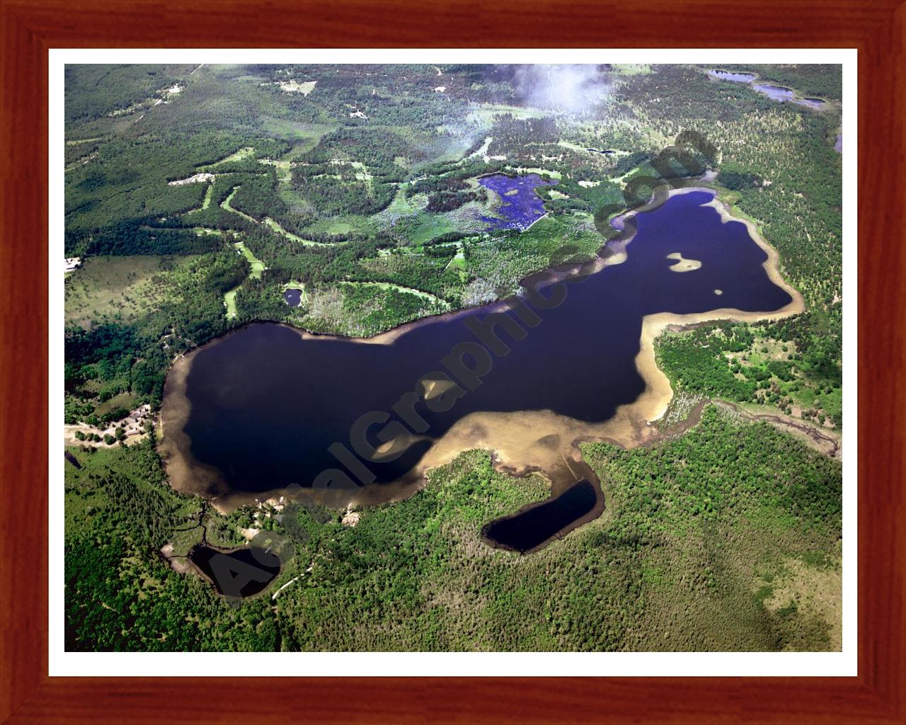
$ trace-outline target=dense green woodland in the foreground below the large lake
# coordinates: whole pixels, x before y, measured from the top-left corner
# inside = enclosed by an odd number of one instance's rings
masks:
[[[239,606],[163,563],[159,546],[198,517],[150,444],[67,464],[67,644],[75,650],[821,650],[841,472],[766,424],[707,409],[686,435],[631,451],[586,445],[603,517],[537,554],[485,545],[487,520],[546,496],[542,478],[497,473],[485,451],[435,470],[427,488],[365,509],[356,527],[296,505],[294,557],[275,600]],[[149,525],[149,517],[154,524]],[[210,532],[247,525],[206,514]],[[268,519],[270,522],[271,519]],[[167,527],[172,527],[169,531]],[[182,538],[180,538],[182,536]],[[187,626],[187,623],[190,623]],[[836,643],[838,646],[838,642]]]

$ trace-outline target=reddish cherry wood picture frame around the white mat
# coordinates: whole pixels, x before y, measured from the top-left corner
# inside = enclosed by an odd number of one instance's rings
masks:
[[[0,0],[0,721],[906,722],[900,3]],[[857,677],[48,677],[48,48],[432,46],[858,48]]]

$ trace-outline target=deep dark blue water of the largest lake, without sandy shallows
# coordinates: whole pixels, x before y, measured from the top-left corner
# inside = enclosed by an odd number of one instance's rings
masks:
[[[375,481],[404,478],[434,440],[474,411],[550,410],[578,420],[610,419],[644,388],[634,364],[644,315],[722,307],[767,312],[790,302],[768,279],[762,266],[766,254],[747,228],[724,224],[715,209],[700,206],[710,198],[693,192],[639,215],[624,263],[564,285],[565,300],[553,309],[532,307],[539,323],[522,324],[522,340],[500,333],[510,352],[486,352],[490,369],[480,377],[466,381],[461,370],[451,373],[462,391],[468,382],[476,389],[452,400],[449,410],[431,411],[419,397],[413,410],[428,426],[427,438],[392,461],[369,462]],[[671,272],[675,260],[667,255],[673,252],[699,260],[701,268]],[[715,295],[716,289],[723,295]],[[408,391],[420,391],[417,381],[426,373],[449,373],[442,359],[458,343],[487,350],[466,326],[486,315],[478,308],[413,324],[391,344],[306,340],[281,325],[250,324],[202,348],[191,364],[185,427],[191,451],[227,490],[312,486],[327,469],[355,478],[355,464],[340,464],[328,447],[339,442],[354,449],[352,424],[369,411],[386,415],[396,432],[409,425],[393,411],[394,403]],[[462,360],[474,367],[468,355]],[[369,431],[375,447],[383,425]],[[328,478],[318,478],[318,486]]]

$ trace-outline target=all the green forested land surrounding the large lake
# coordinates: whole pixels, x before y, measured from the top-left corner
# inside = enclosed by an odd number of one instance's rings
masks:
[[[598,67],[568,108],[510,66],[67,68],[65,251],[83,260],[65,280],[65,422],[81,434],[70,449],[81,468],[66,464],[67,645],[835,646],[803,582],[839,575],[840,463],[716,408],[650,448],[585,446],[607,510],[531,556],[478,532],[545,498],[545,481],[503,476],[487,452],[362,511],[356,527],[291,507],[267,526],[294,556],[273,589],[238,607],[159,549],[188,550],[199,516],[209,540],[237,544],[253,512],[219,517],[175,494],[153,424],[143,442],[115,431],[102,442],[141,404],[153,420],[174,358],[236,325],[371,336],[513,295],[526,275],[599,253],[611,218],[647,200],[646,178],[679,185],[706,169],[695,183],[757,224],[806,311],[667,333],[661,369],[680,396],[839,432],[839,68],[721,67],[826,106],[679,65]],[[707,143],[684,146],[694,162],[678,166],[670,149],[690,134]],[[477,179],[498,172],[556,182],[536,190],[546,216],[528,231],[488,223],[505,199]],[[287,286],[303,291],[298,307],[284,303]]]

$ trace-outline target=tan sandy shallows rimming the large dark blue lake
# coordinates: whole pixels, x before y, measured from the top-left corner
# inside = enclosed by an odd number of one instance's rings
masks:
[[[669,196],[688,194],[693,191],[705,191],[714,194],[707,206],[714,208],[724,223],[738,221],[746,225],[749,235],[761,247],[766,255],[764,267],[769,279],[784,289],[791,296],[791,301],[785,307],[774,311],[743,312],[734,308],[721,307],[701,314],[651,314],[643,318],[641,324],[641,339],[639,353],[635,357],[635,364],[645,382],[645,390],[633,402],[620,406],[613,417],[602,423],[587,423],[574,420],[554,411],[515,411],[515,412],[476,412],[458,420],[446,434],[435,441],[433,447],[419,461],[418,466],[410,471],[405,481],[391,486],[360,488],[350,492],[349,498],[342,502],[352,504],[376,504],[386,500],[406,498],[424,484],[424,476],[429,469],[444,465],[455,459],[460,452],[468,449],[490,449],[495,452],[495,468],[511,474],[522,475],[530,471],[539,471],[552,481],[554,493],[580,478],[577,471],[585,471],[581,453],[577,443],[583,441],[610,441],[624,448],[634,448],[651,442],[658,436],[658,430],[651,425],[667,410],[673,391],[667,376],[660,371],[655,362],[654,341],[668,326],[684,326],[730,320],[735,322],[757,322],[759,320],[776,320],[791,314],[801,313],[805,309],[802,295],[791,285],[786,284],[779,270],[779,256],[773,247],[758,234],[757,228],[744,219],[732,218],[726,208],[718,201],[713,189],[689,188],[670,191]],[[641,208],[645,211],[654,205]],[[623,218],[628,219],[631,212]],[[622,264],[626,259],[626,246],[630,244],[631,237],[613,242],[610,255],[599,257],[587,263],[586,270],[592,274],[601,271],[606,266]],[[697,263],[697,260],[678,258],[677,265],[687,266]],[[698,263],[700,266],[700,263]],[[573,267],[574,268],[574,267]],[[698,268],[698,267],[689,267]],[[676,271],[689,271],[686,268]],[[551,270],[543,273],[545,279],[556,281],[570,274],[570,268]],[[718,291],[715,291],[719,294]],[[717,301],[718,297],[715,296]],[[506,311],[505,302],[489,304],[483,308],[487,313]],[[463,310],[445,315],[457,317],[471,314],[472,310]],[[409,332],[412,325],[431,324],[437,317],[429,317],[415,323],[403,325],[368,339],[361,343],[390,344],[401,334]],[[291,328],[303,338],[313,338],[315,335],[306,333],[296,328]],[[345,338],[349,339],[349,338]],[[197,461],[191,459],[190,445],[182,428],[188,420],[188,401],[185,399],[185,375],[188,364],[194,353],[182,358],[174,364],[167,382],[164,410],[161,411],[162,443],[161,449],[167,462],[167,472],[174,488],[179,490],[194,490],[202,495],[216,495],[226,493],[225,497],[217,496],[214,505],[223,510],[236,507],[250,498],[240,494],[229,494],[218,486],[217,471],[205,466],[199,466]],[[170,393],[173,393],[172,395]],[[423,397],[432,397],[439,394],[435,386],[430,390],[420,391]],[[255,495],[258,498],[267,498],[268,493]]]

